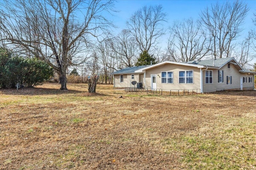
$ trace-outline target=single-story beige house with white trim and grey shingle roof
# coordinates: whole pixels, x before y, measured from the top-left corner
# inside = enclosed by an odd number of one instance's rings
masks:
[[[164,61],[146,66],[127,67],[113,72],[114,87],[134,87],[132,81],[143,88],[162,90],[254,90],[254,74],[244,70],[233,58],[189,61]],[[136,86],[137,87],[137,86]]]

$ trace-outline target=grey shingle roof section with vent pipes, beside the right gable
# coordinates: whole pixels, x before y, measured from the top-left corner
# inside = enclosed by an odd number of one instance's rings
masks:
[[[223,64],[234,59],[233,57],[229,58],[221,58],[221,59],[209,59],[209,60],[201,60],[201,61],[189,61],[189,64],[197,64],[197,65],[204,65],[204,66],[216,66],[221,67]]]

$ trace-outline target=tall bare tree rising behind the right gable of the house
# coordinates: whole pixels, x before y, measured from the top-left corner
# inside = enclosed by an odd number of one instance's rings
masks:
[[[242,31],[241,25],[247,13],[247,5],[239,0],[225,4],[217,2],[202,11],[200,18],[212,37],[214,59],[229,57],[232,43]]]

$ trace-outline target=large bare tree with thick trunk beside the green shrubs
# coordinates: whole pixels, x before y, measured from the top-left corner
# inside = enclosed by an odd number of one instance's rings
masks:
[[[46,61],[59,73],[60,89],[67,90],[68,66],[86,61],[80,57],[90,46],[89,38],[112,25],[102,15],[112,12],[112,5],[112,0],[4,0],[1,41]]]

